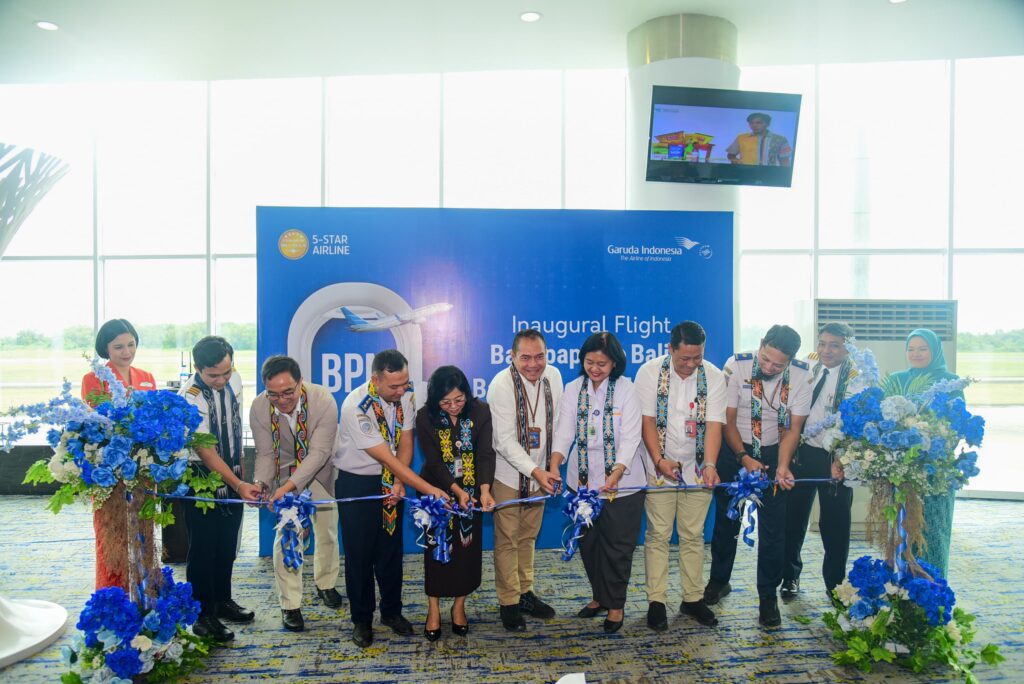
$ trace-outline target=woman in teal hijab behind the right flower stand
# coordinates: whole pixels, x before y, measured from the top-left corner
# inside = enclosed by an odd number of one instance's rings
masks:
[[[939,336],[927,328],[919,328],[906,336],[906,362],[909,368],[893,373],[890,378],[902,391],[911,389],[920,394],[940,380],[955,380],[958,376],[946,368]],[[956,395],[963,398],[963,392]],[[953,524],[955,493],[925,497],[925,543],[927,549],[914,549],[919,558],[939,568],[943,576],[949,565],[949,538]]]

